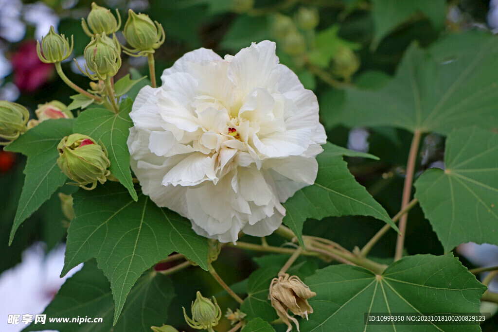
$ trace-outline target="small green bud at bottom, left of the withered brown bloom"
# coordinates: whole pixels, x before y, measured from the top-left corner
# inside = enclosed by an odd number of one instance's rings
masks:
[[[187,324],[197,330],[208,330],[218,325],[221,318],[221,309],[213,296],[214,304],[211,300],[203,297],[201,292],[197,292],[195,302],[192,302],[192,319],[187,316],[183,308],[183,316]]]

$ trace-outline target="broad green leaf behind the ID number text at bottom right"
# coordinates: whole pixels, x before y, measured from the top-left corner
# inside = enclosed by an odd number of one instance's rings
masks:
[[[365,313],[479,313],[486,286],[451,253],[415,255],[377,276],[359,266],[332,265],[306,278],[317,295],[301,331],[464,331],[461,325],[365,325]],[[481,331],[466,325],[465,331]]]

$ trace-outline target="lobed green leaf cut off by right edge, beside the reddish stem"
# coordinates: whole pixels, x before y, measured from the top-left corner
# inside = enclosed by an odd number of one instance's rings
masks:
[[[463,242],[498,244],[498,134],[455,130],[446,140],[446,170],[429,169],[415,197],[446,251]]]

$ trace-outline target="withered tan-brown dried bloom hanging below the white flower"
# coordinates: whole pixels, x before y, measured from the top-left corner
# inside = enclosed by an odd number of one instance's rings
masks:
[[[308,315],[313,313],[308,299],[313,296],[316,296],[316,293],[312,292],[301,279],[297,276],[289,277],[287,273],[283,273],[271,281],[268,300],[271,301],[271,306],[275,308],[278,317],[287,324],[287,332],[289,332],[292,330],[289,320],[294,322],[297,331],[299,331],[299,323],[289,315],[288,311],[308,320]]]

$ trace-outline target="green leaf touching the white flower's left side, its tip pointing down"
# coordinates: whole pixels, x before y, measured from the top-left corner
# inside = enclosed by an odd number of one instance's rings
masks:
[[[129,194],[136,201],[137,196],[131,179],[129,151],[126,144],[128,130],[133,124],[128,115],[132,105],[133,101],[127,98],[121,103],[118,114],[103,109],[86,110],[76,119],[74,132],[88,135],[104,144],[111,161],[109,170],[128,189]]]

